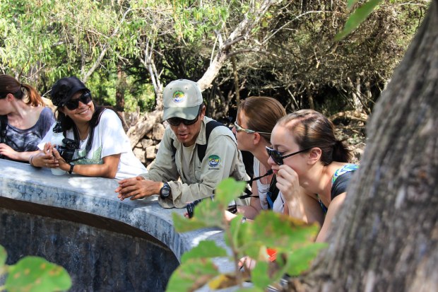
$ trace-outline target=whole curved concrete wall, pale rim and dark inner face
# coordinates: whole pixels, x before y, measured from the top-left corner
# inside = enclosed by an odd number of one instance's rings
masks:
[[[157,197],[120,202],[116,180],[52,175],[0,159],[0,244],[8,263],[38,255],[61,264],[71,291],[163,291],[182,254],[200,240],[224,246],[215,229],[176,233]],[[230,271],[227,259],[217,259]],[[206,290],[206,289],[201,289]]]

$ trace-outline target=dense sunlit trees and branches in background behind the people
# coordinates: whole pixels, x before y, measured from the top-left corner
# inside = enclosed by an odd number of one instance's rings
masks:
[[[236,84],[240,98],[274,96],[289,111],[369,112],[427,2],[382,2],[355,33],[335,41],[348,17],[345,6],[339,0],[1,0],[0,71],[41,93],[57,78],[76,75],[99,103],[152,110],[163,84],[199,80],[213,57],[225,54],[204,95],[214,117],[233,114]],[[254,21],[244,27],[249,31],[218,52],[245,21]]]

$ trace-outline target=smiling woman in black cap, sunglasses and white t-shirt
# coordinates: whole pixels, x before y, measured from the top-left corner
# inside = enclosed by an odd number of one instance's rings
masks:
[[[61,78],[52,87],[52,103],[57,106],[58,122],[70,139],[73,157],[60,155],[50,143],[54,127],[42,139],[41,154],[32,165],[60,168],[68,173],[122,179],[146,173],[131,150],[131,144],[114,110],[93,103],[90,90],[76,77]],[[68,151],[66,151],[68,152]],[[47,159],[44,153],[52,153]]]

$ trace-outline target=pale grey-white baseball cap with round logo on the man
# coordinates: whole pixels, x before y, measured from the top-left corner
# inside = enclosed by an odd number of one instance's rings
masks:
[[[162,92],[164,113],[162,119],[180,117],[196,119],[199,105],[203,103],[198,83],[187,79],[178,79],[167,84]]]

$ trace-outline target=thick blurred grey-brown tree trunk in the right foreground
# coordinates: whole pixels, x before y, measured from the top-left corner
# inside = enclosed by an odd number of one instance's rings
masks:
[[[433,0],[370,117],[329,247],[295,291],[438,287],[438,6]]]

